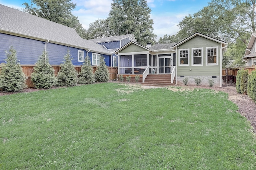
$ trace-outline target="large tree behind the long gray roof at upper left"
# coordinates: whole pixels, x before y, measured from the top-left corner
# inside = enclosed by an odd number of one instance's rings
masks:
[[[27,2],[22,5],[26,6],[24,12],[72,27],[82,38],[85,37],[85,29],[71,12],[76,7],[71,0],[31,0],[31,5]]]

